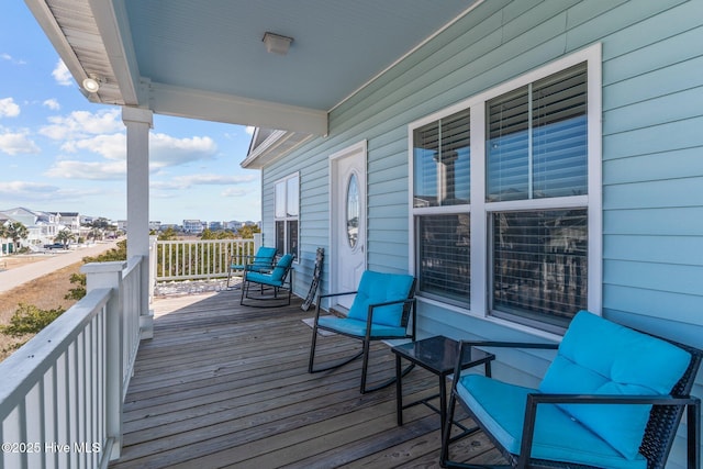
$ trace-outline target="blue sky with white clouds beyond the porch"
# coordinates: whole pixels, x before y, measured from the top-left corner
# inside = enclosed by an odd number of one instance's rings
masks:
[[[250,127],[154,114],[149,220],[259,221]],[[89,102],[22,0],[0,1],[0,211],[126,219],[120,107]]]

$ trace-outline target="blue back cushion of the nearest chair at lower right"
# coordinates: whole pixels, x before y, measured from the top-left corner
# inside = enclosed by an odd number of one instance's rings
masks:
[[[539,391],[668,394],[690,360],[688,351],[665,340],[581,311],[571,321]],[[634,459],[639,450],[651,409],[607,404],[560,407],[628,459]]]

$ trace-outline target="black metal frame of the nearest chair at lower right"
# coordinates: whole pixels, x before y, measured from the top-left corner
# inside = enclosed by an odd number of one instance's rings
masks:
[[[646,334],[646,333],[645,333]],[[649,334],[652,335],[652,334]],[[669,457],[669,451],[673,445],[673,440],[677,435],[677,428],[683,416],[683,411],[687,411],[687,427],[688,427],[688,469],[700,469],[701,465],[701,400],[695,397],[691,397],[691,389],[695,380],[695,375],[701,366],[703,359],[703,350],[695,347],[688,346],[685,344],[679,344],[665,337],[652,335],[652,337],[660,338],[669,342],[691,354],[691,362],[685,372],[677,384],[671,390],[669,395],[595,395],[595,394],[543,394],[532,393],[527,395],[527,403],[525,407],[525,421],[523,424],[523,433],[521,440],[520,455],[514,455],[503,448],[500,443],[491,435],[482,422],[480,422],[471,409],[458,398],[456,392],[457,381],[454,380],[451,386],[451,394],[449,398],[449,409],[447,411],[447,422],[451,422],[454,418],[454,412],[456,409],[457,400],[461,406],[473,418],[478,426],[483,429],[486,435],[491,439],[495,447],[503,454],[507,460],[507,466],[482,466],[470,465],[462,462],[455,462],[448,459],[449,444],[454,443],[450,438],[450,426],[445,427],[445,433],[442,442],[442,453],[439,458],[439,465],[447,468],[583,468],[583,469],[598,469],[592,466],[579,466],[572,462],[551,461],[551,460],[538,460],[531,458],[532,443],[535,429],[535,422],[537,415],[537,406],[539,404],[566,404],[566,403],[582,403],[582,404],[651,404],[652,409],[649,414],[649,421],[645,429],[645,436],[639,447],[639,453],[647,458],[647,468],[663,468]],[[531,344],[531,343],[509,343],[509,342],[461,342],[459,347],[459,357],[464,347],[507,347],[507,348],[548,348],[556,349],[557,344]],[[455,370],[455,377],[460,376],[460,369],[457,367]]]

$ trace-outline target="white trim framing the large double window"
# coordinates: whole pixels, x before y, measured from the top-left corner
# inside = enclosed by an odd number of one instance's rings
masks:
[[[570,208],[587,206],[588,208],[588,226],[589,226],[589,247],[588,247],[588,309],[592,313],[602,314],[602,280],[603,280],[603,213],[602,213],[602,45],[600,43],[589,46],[584,49],[570,54],[563,58],[547,64],[538,69],[528,71],[517,78],[501,83],[488,91],[468,98],[449,108],[445,108],[417,121],[408,126],[408,142],[413,142],[413,131],[417,127],[426,125],[431,122],[446,118],[459,111],[470,108],[471,130],[486,129],[486,102],[492,98],[512,91],[527,83],[539,80],[540,78],[556,74],[577,64],[588,63],[588,196],[573,198],[554,198],[550,200],[540,200],[539,208]],[[482,134],[481,134],[482,135]],[[502,210],[533,209],[535,202],[531,200],[505,201],[505,202],[486,202],[486,138],[484,136],[471,137],[471,203],[469,212],[476,215],[471,216],[471,300],[470,308],[461,309],[460,306],[439,302],[419,297],[419,301],[442,305],[447,310],[469,314],[473,317],[490,321],[496,324],[505,325],[518,331],[528,332],[542,337],[558,337],[546,331],[542,331],[527,325],[506,321],[489,315],[488,303],[488,286],[489,286],[489,267],[488,249],[490,248],[488,239],[488,213]],[[480,155],[481,157],[476,157]],[[408,245],[409,245],[409,271],[415,275],[415,215],[423,213],[442,213],[444,208],[413,208],[414,196],[414,155],[413,145],[409,145],[409,208],[410,215],[408,221]],[[447,206],[447,212],[455,212],[456,208]]]

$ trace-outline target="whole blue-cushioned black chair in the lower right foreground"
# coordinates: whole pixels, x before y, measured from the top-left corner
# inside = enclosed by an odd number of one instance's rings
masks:
[[[461,346],[557,348],[500,342]],[[702,356],[696,348],[581,311],[538,389],[461,375],[457,368],[447,422],[459,401],[510,467],[645,469],[663,468],[688,410],[688,467],[698,469],[701,400],[690,392]],[[448,460],[449,429],[440,465],[483,467]]]

